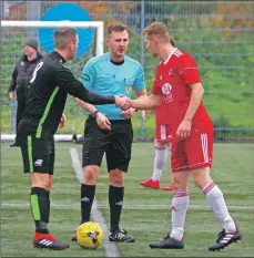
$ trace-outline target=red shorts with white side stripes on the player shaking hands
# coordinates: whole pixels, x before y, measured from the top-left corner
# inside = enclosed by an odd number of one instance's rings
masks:
[[[172,172],[191,171],[212,166],[213,133],[190,136],[186,141],[172,142]]]

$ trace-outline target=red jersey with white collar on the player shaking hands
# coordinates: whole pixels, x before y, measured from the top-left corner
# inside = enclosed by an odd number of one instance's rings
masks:
[[[172,137],[176,136],[191,100],[190,84],[199,83],[200,74],[195,61],[186,52],[174,49],[167,61],[159,63],[153,81],[152,94],[162,94],[167,105],[167,123]],[[191,135],[210,132],[213,125],[201,102],[193,120]]]

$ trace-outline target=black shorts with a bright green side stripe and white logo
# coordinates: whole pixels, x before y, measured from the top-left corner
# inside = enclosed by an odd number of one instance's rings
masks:
[[[24,173],[45,173],[53,175],[54,167],[54,138],[37,138],[31,135],[17,137],[21,147]]]

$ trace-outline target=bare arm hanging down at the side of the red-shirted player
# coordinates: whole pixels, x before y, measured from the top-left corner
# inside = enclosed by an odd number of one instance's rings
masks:
[[[192,118],[194,117],[204,94],[204,89],[200,82],[191,84],[190,87],[192,90],[190,105],[182,123],[179,125],[179,128],[176,131],[177,136],[181,138],[186,138],[190,135]]]

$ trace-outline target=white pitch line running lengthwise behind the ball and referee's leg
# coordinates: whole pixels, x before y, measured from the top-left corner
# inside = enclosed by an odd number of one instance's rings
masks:
[[[75,171],[75,176],[77,176],[78,180],[81,182],[81,178],[83,176],[83,171],[82,171],[82,167],[80,164],[77,148],[74,148],[74,147],[70,148],[70,154],[71,154],[71,159],[72,159],[72,165],[73,165],[73,168]],[[104,220],[101,211],[99,210],[99,205],[98,205],[98,202],[95,200],[95,198],[93,199],[91,215],[94,218],[94,220],[101,225],[102,230],[104,233],[103,247],[105,250],[105,256],[106,257],[120,257],[115,244],[109,241],[109,229],[106,227],[105,220]]]

